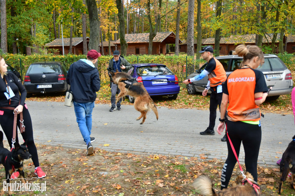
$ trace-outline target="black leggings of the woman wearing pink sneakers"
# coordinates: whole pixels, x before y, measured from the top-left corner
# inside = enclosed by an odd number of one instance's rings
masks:
[[[0,110],[4,111],[3,115],[0,115],[0,124],[1,127],[6,135],[6,138],[8,140],[10,148],[12,148],[12,134],[13,134],[13,119],[14,119],[14,114],[12,110],[9,109],[1,109]],[[38,154],[37,154],[37,148],[34,143],[34,138],[33,138],[33,127],[32,127],[32,120],[31,116],[29,113],[29,110],[24,107],[23,111],[23,118],[24,118],[24,126],[25,127],[25,132],[22,133],[22,137],[24,140],[27,140],[27,147],[32,155],[32,161],[35,165],[35,167],[39,167],[39,159],[38,159]],[[17,126],[19,127],[19,114],[17,115]],[[18,136],[16,133],[16,143],[18,143]]]

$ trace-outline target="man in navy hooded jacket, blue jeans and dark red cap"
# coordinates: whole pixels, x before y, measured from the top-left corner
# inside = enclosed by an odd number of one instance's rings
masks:
[[[95,141],[90,137],[92,128],[92,109],[96,99],[96,92],[100,89],[98,70],[94,67],[101,54],[96,50],[87,53],[87,59],[80,59],[71,64],[67,74],[67,83],[71,85],[73,92],[73,104],[77,117],[77,123],[83,139],[87,144],[86,155],[93,154],[91,142]]]

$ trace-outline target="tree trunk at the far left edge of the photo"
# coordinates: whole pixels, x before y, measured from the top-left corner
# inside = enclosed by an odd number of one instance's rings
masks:
[[[6,0],[0,0],[1,18],[1,50],[7,53],[7,23],[6,23]]]

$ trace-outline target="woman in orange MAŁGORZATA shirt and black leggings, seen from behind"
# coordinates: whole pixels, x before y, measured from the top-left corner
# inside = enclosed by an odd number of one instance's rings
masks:
[[[246,170],[253,175],[253,180],[257,181],[257,160],[261,142],[261,114],[258,106],[265,101],[268,89],[263,73],[255,69],[264,63],[264,57],[258,46],[244,44],[237,46],[234,54],[243,57],[243,62],[240,69],[227,77],[224,85],[217,132],[221,134],[224,129],[227,109],[226,131],[237,156],[243,143]],[[226,141],[228,156],[222,169],[221,189],[227,188],[237,162],[228,138]]]

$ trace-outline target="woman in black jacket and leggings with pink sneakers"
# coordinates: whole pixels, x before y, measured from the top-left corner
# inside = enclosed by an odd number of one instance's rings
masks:
[[[7,72],[7,65],[3,57],[0,56],[0,125],[6,135],[10,148],[12,148],[13,137],[13,124],[14,113],[10,109],[4,109],[3,107],[12,107],[17,110],[17,125],[20,126],[20,113],[23,114],[23,124],[25,131],[22,132],[22,137],[27,140],[27,147],[32,155],[32,161],[35,165],[35,174],[38,178],[43,178],[46,174],[42,171],[37,154],[37,148],[33,138],[32,120],[27,105],[24,103],[27,91],[24,89],[22,82],[12,72]],[[20,94],[20,95],[19,95]],[[18,143],[18,137],[16,134],[16,143]],[[19,175],[18,172],[14,173],[13,178]]]

